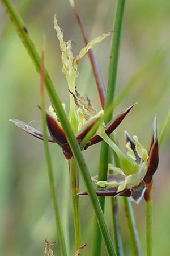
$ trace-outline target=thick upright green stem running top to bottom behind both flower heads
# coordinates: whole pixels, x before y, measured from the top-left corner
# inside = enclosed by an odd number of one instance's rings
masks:
[[[120,39],[121,39],[121,29],[122,29],[122,20],[124,15],[125,0],[118,0],[116,7],[116,14],[113,23],[113,36],[111,44],[111,55],[109,62],[109,74],[108,74],[108,86],[107,94],[105,100],[105,110],[109,108],[114,99],[114,93],[116,88],[116,76],[117,76],[117,66],[118,66],[118,56],[120,51]],[[105,123],[108,123],[112,119],[112,113],[104,119]],[[105,142],[101,143],[100,151],[100,163],[99,163],[99,174],[98,180],[107,179],[107,170],[108,170],[108,156],[109,156],[109,147]],[[105,198],[100,197],[99,202],[101,209],[104,212]],[[92,256],[101,255],[101,233],[97,221],[94,222],[94,240],[92,248]]]

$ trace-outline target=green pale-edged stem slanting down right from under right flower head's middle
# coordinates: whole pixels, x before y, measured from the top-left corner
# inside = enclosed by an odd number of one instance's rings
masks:
[[[141,254],[141,249],[139,245],[139,238],[138,238],[138,232],[137,232],[137,227],[135,223],[135,217],[134,217],[133,208],[132,208],[129,197],[124,197],[124,207],[125,207],[126,218],[128,221],[128,226],[130,231],[133,254],[134,256],[141,256],[142,254]]]

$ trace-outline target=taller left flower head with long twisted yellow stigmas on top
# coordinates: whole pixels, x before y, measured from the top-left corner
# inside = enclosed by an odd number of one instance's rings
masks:
[[[107,36],[111,35],[112,32],[108,32],[107,34],[103,34],[98,38],[95,38],[90,43],[87,44],[86,47],[81,49],[78,56],[73,56],[73,52],[71,49],[71,40],[65,42],[63,40],[63,32],[61,28],[58,26],[57,16],[54,15],[54,28],[57,32],[57,38],[59,40],[59,48],[61,49],[61,60],[62,60],[62,72],[66,77],[68,86],[69,86],[69,96],[70,96],[70,112],[69,112],[69,121],[73,131],[75,133],[76,139],[80,144],[88,131],[92,126],[97,122],[97,120],[104,114],[103,110],[97,112],[94,106],[91,104],[90,99],[87,97],[86,99],[80,96],[75,87],[75,79],[78,76],[78,64],[79,60],[82,59],[84,55],[88,52],[89,49],[95,46],[95,44],[103,41]],[[114,129],[122,122],[125,118],[126,114],[133,108],[130,106],[123,113],[121,113],[114,121],[104,124],[104,131],[106,134],[112,133]],[[65,104],[63,104],[63,109],[65,109]],[[61,123],[59,122],[56,113],[52,106],[49,106],[48,111],[46,111],[46,120],[49,130],[49,142],[57,143],[62,147],[63,154],[67,159],[70,159],[73,156],[69,143],[67,142],[66,135],[62,129]],[[27,125],[22,121],[17,119],[11,120],[22,130],[27,133],[33,135],[36,138],[43,139],[43,134],[36,130],[35,128]],[[92,144],[96,144],[102,141],[102,138],[99,134],[93,134],[90,141],[87,142],[86,146],[83,148],[85,150],[88,146]]]

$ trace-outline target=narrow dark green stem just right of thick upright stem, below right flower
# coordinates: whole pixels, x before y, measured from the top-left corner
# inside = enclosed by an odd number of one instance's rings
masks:
[[[123,256],[123,246],[121,240],[120,233],[120,225],[118,221],[118,200],[117,198],[111,197],[111,205],[112,205],[112,216],[113,216],[113,229],[114,229],[114,240],[116,243],[116,252],[117,256]]]

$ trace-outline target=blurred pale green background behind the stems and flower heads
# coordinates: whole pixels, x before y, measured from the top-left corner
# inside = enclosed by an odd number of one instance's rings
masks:
[[[61,52],[56,32],[53,28],[53,15],[56,12],[58,22],[65,32],[65,40],[72,39],[75,55],[84,46],[69,1],[63,0],[18,0],[16,6],[22,13],[29,33],[39,51],[44,35],[46,36],[45,64],[61,100],[68,106],[69,92],[65,77],[62,75]],[[76,6],[82,18],[84,28],[92,39],[102,32],[112,30],[116,1],[78,0]],[[118,65],[116,95],[131,80],[135,85],[118,105],[115,115],[138,102],[128,118],[118,127],[117,135],[122,150],[125,148],[124,129],[131,135],[137,134],[141,143],[148,148],[152,133],[152,121],[158,114],[158,134],[169,110],[170,95],[170,59],[169,24],[170,2],[168,0],[131,0],[126,2],[122,30],[120,61]],[[107,84],[109,48],[111,39],[94,48],[97,63]],[[146,65],[146,63],[148,63]],[[142,67],[141,75],[135,76]],[[142,69],[143,70],[143,69]],[[9,119],[17,118],[32,122],[41,130],[39,76],[10,20],[0,5],[0,207],[1,255],[28,256],[43,255],[45,238],[56,241],[53,207],[50,201],[48,174],[44,159],[42,142],[25,134],[15,127]],[[100,102],[97,97],[95,80],[88,57],[79,65],[79,77],[76,80],[78,91],[91,98],[97,109]],[[48,107],[49,100],[46,100]],[[169,255],[170,240],[170,134],[169,126],[160,148],[160,163],[154,179],[154,255]],[[69,192],[69,172],[63,160],[61,149],[50,145],[53,157],[56,185],[63,224],[69,216],[70,250],[74,255],[74,225],[71,213]],[[84,151],[91,174],[97,173],[100,145]],[[92,159],[91,159],[92,158]],[[64,180],[68,183],[64,191]],[[84,189],[81,184],[81,189]],[[69,210],[65,210],[69,197]],[[124,241],[125,255],[131,255],[128,227],[120,201],[120,222]],[[81,197],[82,242],[87,242],[84,255],[91,253],[93,210],[87,197]],[[142,201],[134,206],[137,227],[141,239],[143,255],[146,255],[145,242],[145,204]],[[110,199],[107,199],[106,220],[113,234]],[[59,245],[54,247],[54,255],[60,255]],[[107,255],[105,247],[103,254]]]

